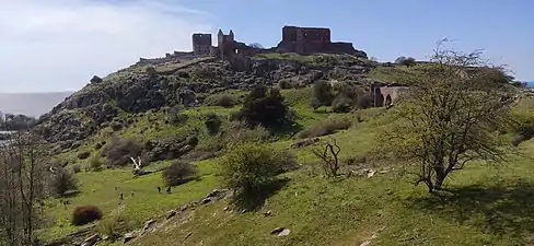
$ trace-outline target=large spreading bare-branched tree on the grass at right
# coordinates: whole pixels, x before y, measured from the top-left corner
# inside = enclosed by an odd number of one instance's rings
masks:
[[[506,161],[499,130],[511,124],[512,91],[499,82],[503,69],[480,51],[443,49],[444,42],[432,63],[396,74],[408,94],[395,108],[399,119],[379,137],[378,156],[404,164],[429,192],[469,162]]]

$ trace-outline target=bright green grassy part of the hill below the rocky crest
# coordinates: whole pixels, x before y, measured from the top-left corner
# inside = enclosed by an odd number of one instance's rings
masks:
[[[268,58],[271,57],[262,57]],[[291,59],[295,60],[294,57]],[[316,62],[309,57],[299,59],[302,62]],[[394,69],[405,68],[378,67],[369,69],[361,78],[387,81],[390,78],[384,71]],[[179,72],[179,69],[174,72]],[[84,90],[89,91],[90,87]],[[246,87],[237,87],[207,94],[230,93],[241,98],[240,95],[246,94]],[[365,168],[376,173],[373,176],[327,178],[317,166],[318,160],[312,154],[311,147],[290,148],[295,141],[291,138],[294,133],[333,119],[350,122],[348,129],[321,137],[336,139],[341,149],[341,160],[350,163],[349,160],[361,160],[373,147],[381,144],[375,140],[376,132],[394,121],[395,117],[385,108],[345,114],[332,113],[329,107],[313,110],[309,106],[311,93],[310,85],[282,90],[286,104],[293,110],[295,128],[275,132],[266,141],[274,148],[294,153],[301,167],[281,174],[285,185],[269,196],[259,210],[234,210],[227,199],[179,210],[184,204],[202,199],[211,190],[222,188],[218,174],[224,148],[214,152],[208,150],[223,140],[208,133],[204,126],[205,115],[220,115],[225,129],[232,124],[231,116],[240,109],[240,104],[221,107],[202,103],[186,107],[179,112],[186,116],[186,120],[179,124],[169,122],[169,110],[164,107],[150,109],[150,113],[120,109],[111,121],[131,119],[130,124],[115,130],[111,124],[101,125],[79,144],[55,155],[56,160],[66,161],[69,168],[82,167],[82,172],[77,174],[80,191],[72,197],[46,201],[44,214],[47,226],[39,231],[39,236],[53,241],[86,227],[71,225],[70,216],[76,207],[94,204],[102,209],[104,219],[91,230],[103,236],[111,232],[124,235],[142,229],[143,223],[151,219],[158,219],[148,233],[126,245],[361,245],[365,242],[370,245],[440,246],[534,244],[534,206],[530,202],[530,197],[534,195],[534,168],[531,166],[534,141],[522,143],[520,148],[526,153],[525,156],[515,157],[507,165],[477,163],[454,173],[444,184],[450,192],[441,197],[429,195],[426,188],[410,184],[410,179],[400,176],[396,163],[357,162],[344,165],[341,173],[356,174]],[[83,95],[83,92],[79,95]],[[61,114],[78,115],[82,121],[92,122],[83,108],[66,108]],[[193,160],[199,178],[174,187],[171,194],[158,192],[158,187],[164,186],[159,172],[135,177],[130,166],[102,171],[84,168],[91,165],[94,156],[103,161],[100,157],[102,149],[95,145],[102,141],[109,142],[113,134],[147,141],[190,132],[196,132],[199,144],[181,159]],[[91,156],[80,159],[80,153],[84,152]],[[191,157],[205,152],[213,153],[207,159]],[[152,162],[144,168],[158,169],[173,161]],[[124,200],[119,199],[120,194],[124,194]],[[69,203],[63,204],[65,200]],[[166,219],[170,210],[178,213]],[[288,229],[290,233],[287,236],[271,235],[276,227]],[[119,236],[98,245],[123,245],[121,241]]]

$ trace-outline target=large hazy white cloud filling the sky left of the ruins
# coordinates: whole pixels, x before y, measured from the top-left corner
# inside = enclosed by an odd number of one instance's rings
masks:
[[[0,92],[78,90],[139,57],[190,50],[211,17],[161,0],[0,0]]]

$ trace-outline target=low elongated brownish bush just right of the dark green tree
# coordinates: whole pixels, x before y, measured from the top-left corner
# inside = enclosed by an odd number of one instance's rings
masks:
[[[344,117],[332,117],[310,125],[304,130],[299,131],[299,133],[295,134],[295,138],[305,139],[333,134],[338,130],[348,129],[351,125],[351,121]]]

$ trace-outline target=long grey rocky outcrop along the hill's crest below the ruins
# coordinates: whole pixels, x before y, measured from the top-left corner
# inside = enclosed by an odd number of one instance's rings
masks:
[[[357,80],[371,69],[369,62],[353,56],[307,56],[298,59],[287,54],[280,56],[267,59],[242,57],[224,62],[199,59],[175,69],[155,67],[158,72],[150,74],[144,67],[131,66],[103,79],[93,78],[92,83],[42,116],[37,127],[59,152],[77,147],[79,141],[107,126],[106,122],[120,112],[137,114],[176,104],[195,105],[195,94],[245,90],[258,83],[275,85],[282,80],[292,81],[299,86],[318,79]],[[164,73],[161,72],[163,70]],[[188,97],[184,98],[184,95]]]

